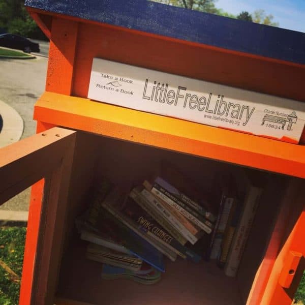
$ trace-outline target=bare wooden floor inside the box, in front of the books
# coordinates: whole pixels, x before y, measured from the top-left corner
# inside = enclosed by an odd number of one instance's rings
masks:
[[[214,262],[165,261],[166,272],[154,285],[129,280],[102,280],[101,263],[85,259],[87,243],[74,241],[66,252],[57,296],[93,304],[241,304],[237,281]],[[80,279],[82,279],[80,281]],[[215,289],[219,287],[219,289]]]

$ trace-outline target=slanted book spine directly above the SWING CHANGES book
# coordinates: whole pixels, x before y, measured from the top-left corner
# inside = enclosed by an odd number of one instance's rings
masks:
[[[185,245],[187,239],[184,238],[161,214],[161,212],[151,206],[148,199],[136,190],[132,190],[130,195],[132,198],[151,216],[153,217],[163,228],[165,228],[169,234],[171,234],[181,245]]]

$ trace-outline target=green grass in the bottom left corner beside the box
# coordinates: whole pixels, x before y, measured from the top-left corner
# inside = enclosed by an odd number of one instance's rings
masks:
[[[0,259],[21,277],[26,228],[0,227]],[[0,266],[0,304],[17,305],[20,281],[11,279]]]

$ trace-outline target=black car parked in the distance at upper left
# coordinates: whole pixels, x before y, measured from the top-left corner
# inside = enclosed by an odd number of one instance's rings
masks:
[[[40,52],[38,43],[15,34],[0,34],[0,46],[22,50],[25,53]]]

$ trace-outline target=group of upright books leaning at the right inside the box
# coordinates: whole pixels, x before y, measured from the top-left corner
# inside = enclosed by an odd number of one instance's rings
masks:
[[[207,259],[216,260],[226,276],[235,277],[263,193],[263,181],[255,174],[238,171],[220,183],[219,213],[212,232]],[[241,187],[240,187],[241,186]]]

